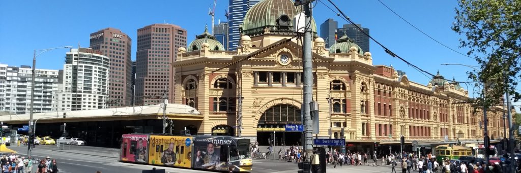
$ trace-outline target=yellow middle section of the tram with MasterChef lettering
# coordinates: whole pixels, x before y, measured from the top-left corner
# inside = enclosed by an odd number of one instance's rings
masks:
[[[150,136],[148,164],[190,168],[192,137]]]

